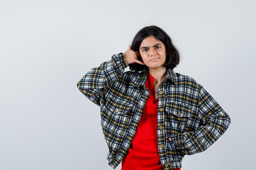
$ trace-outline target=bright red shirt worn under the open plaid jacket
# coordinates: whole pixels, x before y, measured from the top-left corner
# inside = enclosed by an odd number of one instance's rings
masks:
[[[148,73],[146,88],[149,91],[149,98],[128,154],[122,160],[121,170],[164,170],[157,146],[158,99],[155,98],[154,81],[154,77]]]

